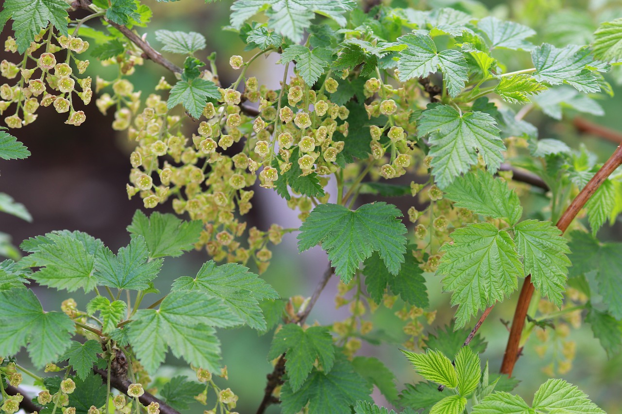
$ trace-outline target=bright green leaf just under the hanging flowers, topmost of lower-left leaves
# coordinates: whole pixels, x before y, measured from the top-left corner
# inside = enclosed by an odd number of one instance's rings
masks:
[[[174,214],[152,213],[149,218],[136,210],[128,231],[145,238],[149,258],[177,257],[194,247],[203,223],[200,220],[182,221]]]

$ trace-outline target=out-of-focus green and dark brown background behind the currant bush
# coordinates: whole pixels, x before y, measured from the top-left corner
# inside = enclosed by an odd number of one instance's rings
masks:
[[[152,34],[157,29],[200,32],[208,39],[208,47],[203,55],[199,53],[197,57],[205,58],[216,51],[223,85],[228,85],[237,77],[237,73],[227,64],[228,58],[238,54],[248,58],[250,54],[243,51],[244,44],[237,34],[221,28],[228,24],[230,1],[223,0],[215,4],[205,4],[203,0],[183,0],[170,4],[152,0],[144,2],[154,12],[147,31],[147,40],[154,47],[159,47]],[[491,13],[536,29],[538,34],[532,42],[538,44],[545,41],[557,46],[585,44],[590,41],[598,23],[622,16],[622,3],[606,0],[394,1],[392,6],[452,6],[471,12],[476,17]],[[139,29],[139,32],[144,32],[144,29]],[[2,44],[6,35],[5,31],[0,39]],[[2,58],[7,58],[7,53],[2,54]],[[168,57],[177,64],[182,63],[182,57]],[[518,68],[529,65],[528,53],[518,53],[513,59]],[[277,57],[258,60],[248,74],[257,76],[260,83],[276,88],[282,76],[282,67],[274,65],[276,60]],[[91,66],[92,70],[87,73],[95,77],[99,73],[98,65],[91,61]],[[605,108],[605,116],[582,116],[602,126],[622,131],[622,88],[616,83],[622,78],[619,69],[606,76],[613,85],[615,96],[610,98],[601,94],[598,98]],[[171,82],[174,80],[170,73],[147,61],[143,67],[137,68],[130,79],[136,90],[149,93],[163,75]],[[124,132],[115,132],[109,128],[111,115],[102,116],[94,105],[88,108],[86,114],[85,124],[76,128],[63,124],[62,117],[53,111],[40,111],[37,122],[14,131],[29,147],[32,156],[27,160],[0,161],[0,191],[9,193],[17,201],[24,203],[34,218],[33,223],[26,223],[6,214],[0,216],[0,229],[11,234],[17,244],[27,237],[57,229],[88,232],[101,238],[113,251],[128,243],[129,236],[125,228],[134,211],[142,208],[142,202],[137,198],[128,201],[125,191],[131,145]],[[616,144],[601,137],[580,134],[570,122],[572,117],[573,114],[569,113],[565,122],[560,124],[539,111],[532,111],[526,119],[539,127],[541,138],[561,139],[572,148],[585,144],[588,150],[598,155],[599,162],[604,162]],[[258,195],[254,208],[249,214],[249,226],[256,225],[261,229],[267,229],[271,223],[284,227],[296,226],[296,213],[289,213],[284,201],[278,196],[259,188],[256,193]],[[527,203],[530,200],[531,198],[527,198]],[[398,205],[402,211],[406,211],[412,204],[411,198],[388,201]],[[529,209],[529,205],[526,205],[526,209]],[[160,211],[170,211],[170,205]],[[622,223],[618,220],[611,228],[605,226],[599,236],[603,241],[622,241]],[[182,275],[195,275],[200,265],[208,259],[207,254],[202,251],[165,260],[160,277],[156,280],[156,287],[168,292],[172,280]],[[322,265],[316,267],[316,263]],[[325,254],[318,248],[298,254],[295,250],[295,234],[289,234],[285,236],[281,246],[274,249],[272,265],[263,277],[282,297],[307,296],[313,291],[315,281],[324,272],[325,263]],[[440,293],[437,278],[433,275],[426,277],[431,308],[439,309],[435,325],[446,324],[453,315],[452,309],[448,307],[449,296]],[[310,322],[317,320],[322,324],[330,324],[347,316],[345,309],[336,310],[333,305],[336,284],[333,278],[310,315]],[[55,293],[36,286],[34,290],[44,303],[45,310],[58,310],[60,302],[67,298],[65,292]],[[81,307],[90,299],[80,293],[72,293],[72,297]],[[480,330],[488,340],[488,349],[483,357],[489,359],[493,371],[501,364],[508,337],[506,327],[499,320],[511,320],[515,303],[516,298],[513,298],[496,306]],[[384,361],[396,374],[399,389],[403,388],[404,383],[417,382],[419,378],[398,351],[399,343],[406,339],[401,332],[401,321],[391,311],[382,309],[372,316],[372,320],[376,329],[386,331],[389,343],[383,346],[365,345],[361,351]],[[223,343],[223,363],[228,366],[230,377],[226,383],[219,379],[220,385],[231,387],[239,395],[238,412],[252,413],[261,401],[266,374],[272,370],[270,362],[266,361],[271,333],[258,336],[250,329],[230,329],[221,330],[219,336]],[[588,393],[606,412],[622,413],[622,357],[618,355],[608,359],[587,326],[572,329],[570,339],[577,342],[577,356],[572,370],[564,375],[564,379]],[[521,380],[518,392],[527,401],[531,401],[533,392],[547,379],[541,368],[549,363],[550,355],[547,354],[544,359],[537,356],[534,346],[538,344],[539,341],[530,341],[514,370],[514,375]],[[161,375],[167,377],[177,373],[187,373],[191,377],[193,375],[182,361],[169,357],[167,367],[162,369]],[[378,392],[374,392],[374,396],[378,395]],[[382,398],[378,398],[378,402],[383,402]],[[195,404],[188,412],[198,413],[202,410],[202,406]],[[268,412],[277,413],[280,410],[277,406],[272,406]]]

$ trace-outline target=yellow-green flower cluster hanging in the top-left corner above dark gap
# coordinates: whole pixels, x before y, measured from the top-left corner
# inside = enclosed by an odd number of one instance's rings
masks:
[[[0,114],[7,111],[12,103],[16,103],[16,112],[4,118],[10,128],[21,128],[37,119],[37,110],[40,106],[52,106],[58,113],[68,113],[65,124],[79,126],[86,120],[84,111],[74,108],[78,101],[88,104],[93,97],[91,78],[82,75],[88,67],[88,60],[79,60],[76,55],[88,49],[88,42],[79,37],[49,36],[43,40],[47,30],[42,30],[35,37],[34,42],[26,50],[26,56],[21,63],[11,63],[7,60],[0,62],[0,75],[8,80],[19,80],[14,85],[3,83],[0,85]],[[55,40],[56,42],[53,42]],[[45,46],[45,47],[44,47]],[[44,47],[44,52],[41,48]],[[5,44],[6,52],[17,52],[15,39],[9,37]],[[64,51],[67,55],[64,62],[57,60],[56,52]],[[27,63],[34,61],[35,66],[27,67]],[[70,63],[73,63],[70,65]]]

